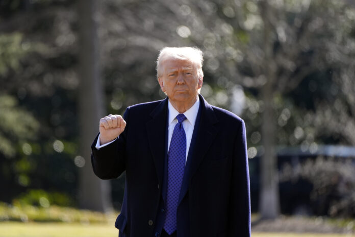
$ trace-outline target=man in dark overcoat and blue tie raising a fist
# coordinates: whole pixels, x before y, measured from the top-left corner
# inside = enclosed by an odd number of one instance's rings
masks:
[[[164,48],[157,75],[167,98],[100,119],[93,170],[126,172],[119,236],[250,236],[244,122],[200,96],[202,61],[198,49]]]

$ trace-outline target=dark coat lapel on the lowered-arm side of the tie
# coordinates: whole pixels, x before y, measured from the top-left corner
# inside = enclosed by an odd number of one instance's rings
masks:
[[[204,159],[218,132],[218,129],[215,126],[218,123],[218,120],[213,108],[201,95],[199,95],[199,98],[200,108],[199,116],[197,116],[199,121],[196,121],[191,139],[191,145],[193,145],[193,147],[190,145],[179,202],[184,198],[192,176]]]

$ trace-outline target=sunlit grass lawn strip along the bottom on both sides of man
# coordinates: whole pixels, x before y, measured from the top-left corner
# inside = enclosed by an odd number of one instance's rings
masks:
[[[0,222],[0,237],[117,237],[113,224]],[[354,237],[344,234],[253,233],[252,237]]]

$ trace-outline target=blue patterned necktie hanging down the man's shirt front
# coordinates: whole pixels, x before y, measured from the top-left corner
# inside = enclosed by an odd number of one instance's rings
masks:
[[[186,134],[183,113],[176,116],[177,124],[172,133],[168,152],[168,191],[166,197],[166,217],[164,229],[168,234],[176,230],[176,211],[183,182],[186,159]]]

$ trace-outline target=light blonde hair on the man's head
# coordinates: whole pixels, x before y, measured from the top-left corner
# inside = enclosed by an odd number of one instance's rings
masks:
[[[197,77],[199,79],[204,78],[204,72],[202,71],[202,64],[204,62],[204,53],[196,47],[165,47],[159,53],[157,59],[157,78],[162,76],[161,63],[168,59],[181,59],[189,60],[196,65],[197,68]]]

